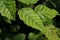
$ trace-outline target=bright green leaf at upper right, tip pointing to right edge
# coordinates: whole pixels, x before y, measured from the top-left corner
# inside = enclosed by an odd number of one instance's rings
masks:
[[[35,8],[36,13],[38,13],[38,15],[44,15],[50,19],[54,18],[56,15],[58,15],[58,12],[54,9],[50,9],[45,5],[38,5]]]

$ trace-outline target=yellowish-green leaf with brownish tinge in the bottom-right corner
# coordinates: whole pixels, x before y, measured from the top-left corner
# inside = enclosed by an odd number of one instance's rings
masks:
[[[49,40],[60,40],[60,38],[57,35],[57,30],[52,24],[45,26],[44,34]]]

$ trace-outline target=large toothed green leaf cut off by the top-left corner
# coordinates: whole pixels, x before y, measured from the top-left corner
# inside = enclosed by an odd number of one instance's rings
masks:
[[[0,13],[9,20],[15,20],[15,0],[0,0]]]

